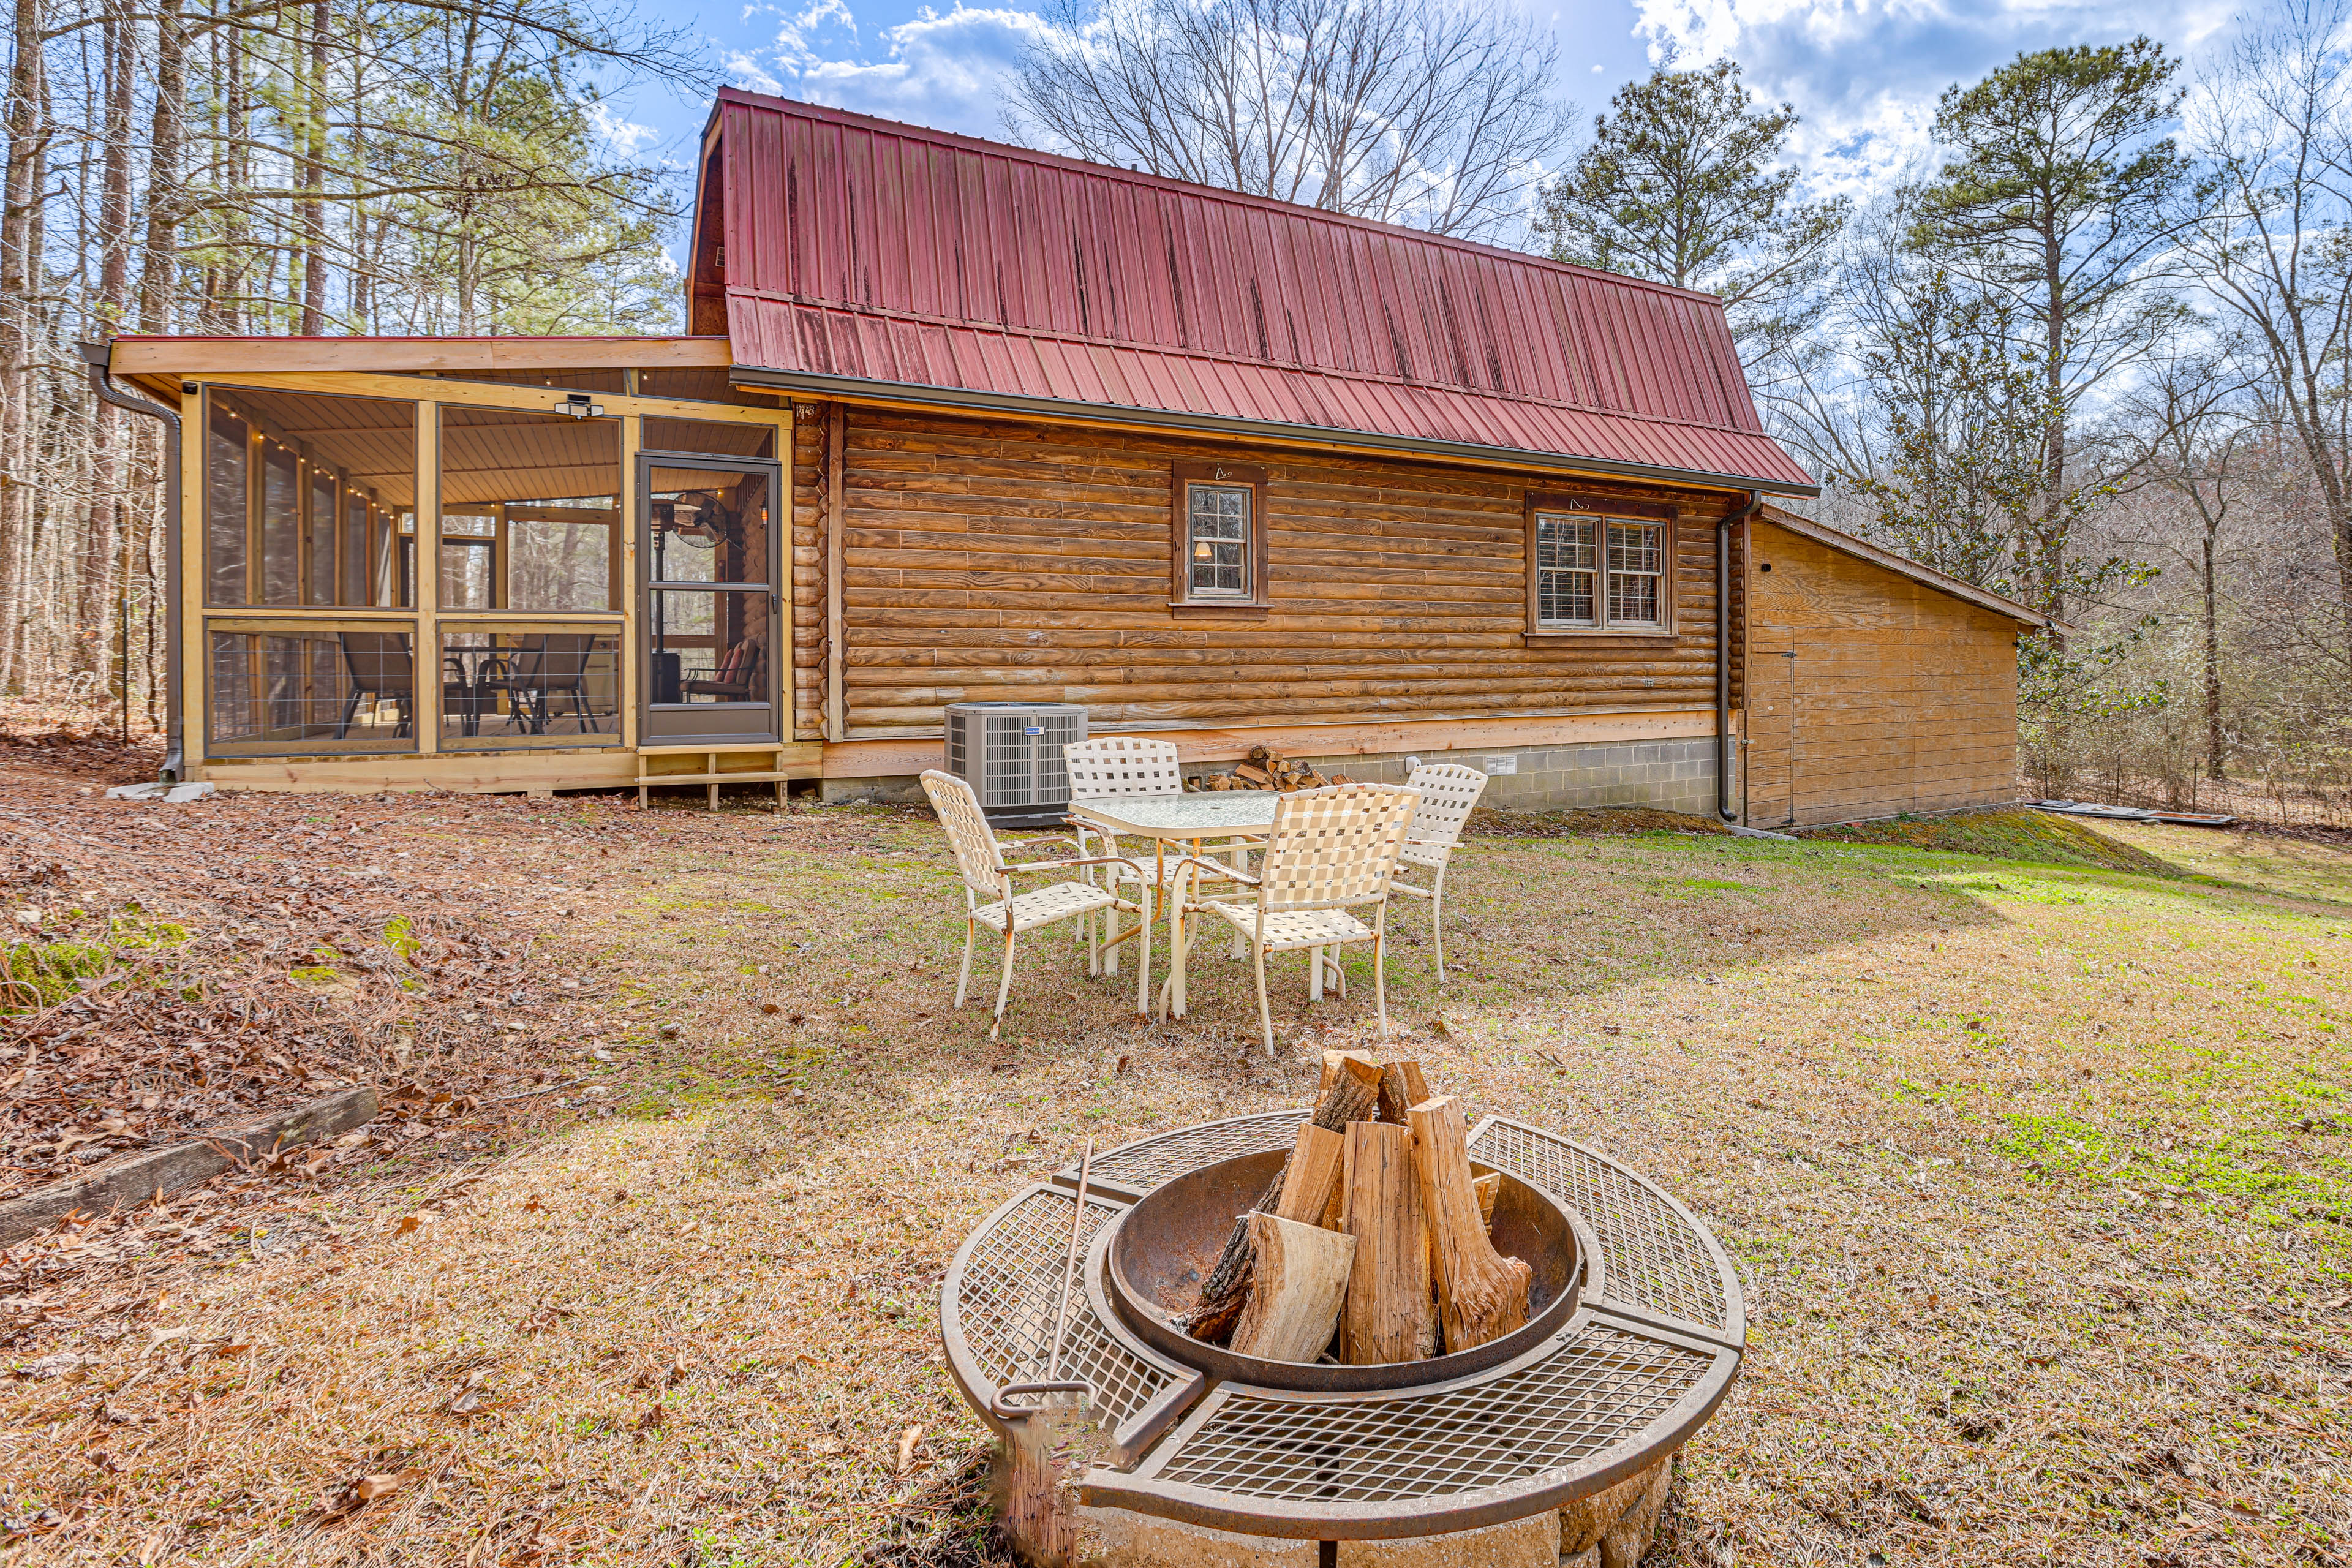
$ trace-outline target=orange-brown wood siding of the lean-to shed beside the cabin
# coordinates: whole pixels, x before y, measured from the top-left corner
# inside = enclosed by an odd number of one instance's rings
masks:
[[[2013,621],[1766,522],[1745,576],[1752,825],[2018,799]]]

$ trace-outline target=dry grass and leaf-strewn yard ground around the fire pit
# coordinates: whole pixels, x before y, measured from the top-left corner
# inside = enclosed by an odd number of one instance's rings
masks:
[[[1089,1135],[1298,1105],[1374,1044],[1369,964],[1310,1009],[1279,959],[1268,1060],[1247,966],[1197,959],[1162,1030],[1037,940],[990,1046],[910,811],[120,806],[82,790],[134,759],[28,750],[0,849],[68,882],[0,919],[87,943],[136,891],[183,929],[87,1009],[209,983],[235,1051],[158,1027],[235,1093],[409,1093],[318,1171],[0,1255],[0,1563],[993,1561],[957,1241]],[[1658,1178],[1748,1284],[1651,1563],[2352,1563],[2352,853],[2098,832],[2154,870],[1486,825],[1444,994],[1399,914],[1395,1044]],[[96,1023],[47,1013],[78,1077],[0,1100],[49,1119],[19,1185],[153,1093]]]

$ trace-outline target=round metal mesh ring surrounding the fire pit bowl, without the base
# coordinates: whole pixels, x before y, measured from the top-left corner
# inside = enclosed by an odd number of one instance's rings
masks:
[[[1108,1439],[1080,1476],[1080,1502],[1289,1540],[1477,1530],[1649,1469],[1731,1392],[1748,1309],[1715,1237],[1606,1154],[1503,1117],[1470,1128],[1470,1159],[1534,1190],[1526,1213],[1536,1197],[1566,1211],[1576,1237],[1562,1265],[1569,1288],[1538,1312],[1545,1326],[1515,1335],[1503,1359],[1468,1371],[1456,1371],[1454,1356],[1378,1368],[1414,1382],[1334,1389],[1279,1387],[1265,1368],[1282,1363],[1223,1352],[1221,1363],[1204,1363],[1209,1347],[1190,1340],[1183,1359],[1169,1354],[1131,1314],[1148,1319],[1148,1309],[1112,1305],[1110,1258],[1129,1215],[1141,1234],[1148,1213],[1136,1211],[1150,1194],[1249,1154],[1265,1154],[1256,1171],[1270,1175],[1305,1117],[1204,1121],[1096,1154],[1077,1215],[1082,1281],[1058,1368],[1087,1385]],[[1235,1166],[1240,1204],[1256,1201],[1265,1175],[1251,1185],[1247,1166]],[[1002,1389],[1047,1378],[1075,1190],[1073,1166],[1014,1194],[971,1232],[941,1288],[948,1371],[1000,1434],[1021,1420]],[[1216,1220],[1216,1246],[1232,1213],[1228,1206]],[[1150,1286],[1148,1274],[1138,1269],[1127,1295],[1155,1300],[1169,1288]]]

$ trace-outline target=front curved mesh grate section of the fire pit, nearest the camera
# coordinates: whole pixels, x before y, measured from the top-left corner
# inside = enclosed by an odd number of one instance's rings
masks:
[[[1637,1434],[1715,1356],[1590,1321],[1543,1359],[1446,1394],[1310,1403],[1232,1394],[1157,1467],[1230,1497],[1397,1502],[1510,1486]]]

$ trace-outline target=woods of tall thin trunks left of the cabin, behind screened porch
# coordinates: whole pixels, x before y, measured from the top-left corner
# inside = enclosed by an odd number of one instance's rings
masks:
[[[670,172],[600,80],[691,78],[567,0],[14,0],[0,691],[160,708],[160,433],[78,341],[647,331]]]

